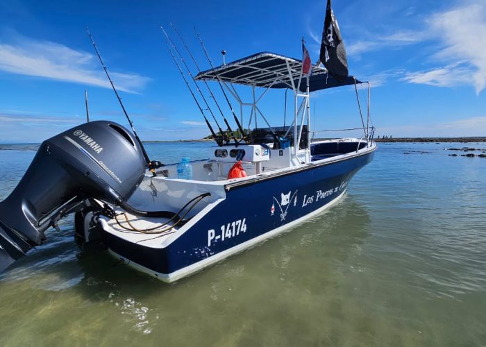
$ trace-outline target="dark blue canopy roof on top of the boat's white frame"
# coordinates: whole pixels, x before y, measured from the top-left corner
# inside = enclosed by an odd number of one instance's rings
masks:
[[[241,85],[255,85],[267,88],[296,89],[301,76],[302,61],[294,58],[280,56],[275,53],[256,53],[240,60],[235,60],[226,65],[201,71],[196,80],[219,80]],[[293,81],[293,85],[292,85]],[[344,81],[337,81],[328,74],[324,67],[312,66],[312,76],[309,79],[309,91],[323,90],[342,85],[362,83],[348,76]],[[302,77],[299,90],[305,92],[307,81]]]

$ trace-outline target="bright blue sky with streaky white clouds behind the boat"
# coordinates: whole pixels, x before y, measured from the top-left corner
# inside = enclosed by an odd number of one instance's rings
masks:
[[[86,26],[138,135],[198,139],[209,131],[160,26],[184,53],[169,23],[178,28],[201,69],[210,66],[194,26],[215,65],[222,62],[222,49],[226,62],[261,51],[301,59],[302,37],[317,61],[325,6],[324,0],[0,0],[0,143],[42,142],[83,123],[85,90],[90,119],[128,126]],[[333,10],[350,74],[371,82],[376,135],[486,136],[484,0],[334,0]],[[185,60],[196,74],[187,54]],[[212,85],[231,115],[218,88]],[[240,90],[250,97],[249,90]],[[360,98],[366,105],[364,89]],[[262,99],[272,126],[283,125],[284,102],[282,90]],[[361,124],[351,87],[319,91],[310,102],[315,130]],[[292,108],[287,101],[287,110]]]

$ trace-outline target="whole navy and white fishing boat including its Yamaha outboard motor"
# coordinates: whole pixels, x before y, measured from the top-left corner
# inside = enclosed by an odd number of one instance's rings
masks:
[[[129,266],[174,282],[330,208],[374,156],[369,97],[365,117],[358,98],[361,137],[317,140],[311,128],[310,94],[351,85],[358,96],[364,82],[354,76],[330,74],[305,56],[263,52],[200,71],[194,80],[219,83],[233,96],[241,138],[208,124],[216,144],[207,159],[152,167],[136,134],[111,121],[46,140],[0,203],[0,271],[74,213],[79,244],[101,242]],[[239,88],[250,88],[251,100]],[[260,108],[269,90],[292,92],[292,124],[269,124]]]

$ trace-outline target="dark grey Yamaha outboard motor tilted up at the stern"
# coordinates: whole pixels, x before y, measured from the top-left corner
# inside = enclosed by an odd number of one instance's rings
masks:
[[[44,242],[44,230],[87,198],[124,204],[146,163],[124,127],[92,121],[42,142],[26,174],[0,203],[0,271]]]

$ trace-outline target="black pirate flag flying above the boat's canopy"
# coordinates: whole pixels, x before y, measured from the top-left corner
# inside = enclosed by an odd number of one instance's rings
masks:
[[[348,76],[348,60],[346,59],[344,42],[342,42],[340,27],[337,25],[334,12],[330,8],[330,0],[328,0],[326,19],[324,19],[324,28],[322,29],[319,59],[329,71],[329,74],[337,81],[342,81]]]

